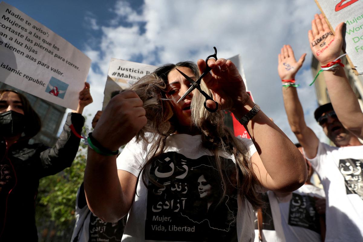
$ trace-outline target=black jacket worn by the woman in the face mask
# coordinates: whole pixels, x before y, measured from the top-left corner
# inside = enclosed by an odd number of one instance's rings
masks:
[[[53,148],[19,140],[7,150],[0,140],[0,241],[38,241],[35,225],[35,198],[39,179],[70,167],[85,119],[70,113]]]

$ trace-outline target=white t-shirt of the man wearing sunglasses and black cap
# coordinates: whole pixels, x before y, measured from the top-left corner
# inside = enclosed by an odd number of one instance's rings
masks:
[[[363,145],[319,143],[316,157],[308,160],[326,194],[325,241],[363,241]]]

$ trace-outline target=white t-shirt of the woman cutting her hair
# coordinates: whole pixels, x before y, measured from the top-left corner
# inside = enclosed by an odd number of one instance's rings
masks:
[[[251,157],[256,148],[251,140],[242,140]],[[130,141],[117,158],[117,169],[137,177],[148,148],[146,142]],[[218,155],[223,172],[235,181],[233,155]],[[139,178],[122,241],[253,241],[252,205],[228,185],[218,204],[224,187],[215,166],[200,135],[170,135],[150,168],[151,177],[165,187],[149,182],[147,189]]]

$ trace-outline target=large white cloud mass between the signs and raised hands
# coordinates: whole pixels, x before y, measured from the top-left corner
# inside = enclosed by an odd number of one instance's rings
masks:
[[[241,55],[255,101],[291,140],[296,141],[282,103],[277,54],[284,44],[294,48],[297,58],[308,53],[305,70],[300,71],[297,80],[310,83],[311,52],[307,31],[319,11],[314,1],[146,0],[139,8],[141,12],[125,1],[118,1],[114,9],[117,17],[110,19],[108,26],[99,26],[102,31],[99,49],[94,50],[92,46],[92,50],[85,50],[92,65],[97,66],[89,74],[94,104],[87,107],[85,113],[95,114],[102,105],[111,57],[132,61],[138,57],[144,63],[161,65],[204,59],[216,46],[218,57]],[[120,25],[120,21],[127,24]],[[314,88],[304,84],[298,92],[306,123],[323,138],[312,115],[317,107]]]

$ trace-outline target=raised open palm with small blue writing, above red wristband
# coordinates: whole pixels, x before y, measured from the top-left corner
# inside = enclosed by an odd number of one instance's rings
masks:
[[[277,71],[281,80],[292,80],[295,78],[296,73],[301,68],[305,60],[305,54],[302,54],[300,59],[296,61],[294,51],[290,45],[284,45],[281,48],[281,53],[278,54]]]

